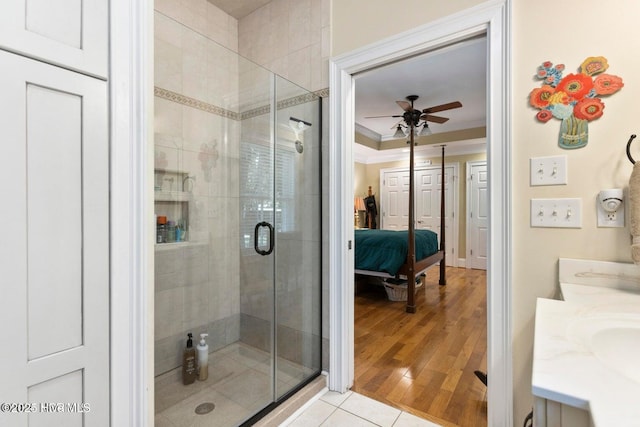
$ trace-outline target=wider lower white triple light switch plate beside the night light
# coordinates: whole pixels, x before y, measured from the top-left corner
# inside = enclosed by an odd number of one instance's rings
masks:
[[[582,228],[582,199],[531,199],[531,226]]]

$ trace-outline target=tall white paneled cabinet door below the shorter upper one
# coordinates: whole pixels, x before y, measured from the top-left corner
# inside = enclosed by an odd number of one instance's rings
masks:
[[[36,405],[0,425],[108,426],[107,83],[0,69],[0,402]]]

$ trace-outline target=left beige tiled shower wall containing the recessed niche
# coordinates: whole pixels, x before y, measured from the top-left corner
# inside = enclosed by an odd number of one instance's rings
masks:
[[[160,374],[182,363],[187,332],[208,332],[211,351],[240,338],[240,122],[237,55],[198,33],[236,50],[237,21],[206,1],[156,1],[156,10],[155,168],[188,178],[164,190],[184,200],[189,226],[187,242],[155,250]],[[170,206],[157,203],[156,213]]]

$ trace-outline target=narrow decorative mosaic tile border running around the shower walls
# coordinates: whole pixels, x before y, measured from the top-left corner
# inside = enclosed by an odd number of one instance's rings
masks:
[[[264,105],[262,107],[247,110],[243,113],[236,113],[234,111],[227,110],[213,104],[208,104],[206,102],[199,101],[195,98],[190,98],[180,93],[163,89],[157,86],[154,87],[153,92],[154,92],[154,95],[157,96],[158,98],[162,98],[162,99],[166,99],[167,101],[186,105],[187,107],[197,108],[198,110],[206,111],[211,114],[216,114],[218,116],[222,116],[231,120],[246,120],[252,117],[258,117],[264,114],[269,114],[269,112],[271,111],[270,105]],[[328,96],[329,96],[329,88],[321,89],[313,93],[294,96],[292,98],[287,98],[282,101],[279,101],[277,103],[277,109],[281,110],[283,108],[295,107],[296,105],[317,101],[319,98],[326,98]]]

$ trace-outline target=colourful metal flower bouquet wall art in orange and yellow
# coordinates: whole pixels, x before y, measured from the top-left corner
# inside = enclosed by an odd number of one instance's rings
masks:
[[[619,91],[622,79],[605,71],[607,59],[589,57],[580,65],[580,72],[562,77],[564,64],[543,62],[537,77],[542,86],[529,94],[529,103],[537,108],[536,118],[546,123],[552,118],[561,120],[558,144],[562,148],[582,148],[589,140],[589,122],[604,112],[601,97]]]

